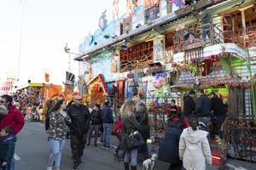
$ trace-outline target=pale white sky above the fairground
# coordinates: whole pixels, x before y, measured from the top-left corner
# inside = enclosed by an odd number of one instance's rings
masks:
[[[23,0],[25,1],[25,0]],[[43,82],[44,71],[50,82],[65,81],[69,56],[64,52],[66,42],[77,52],[79,41],[98,28],[98,19],[107,10],[112,16],[113,0],[1,0],[0,1],[0,81],[7,75],[16,76],[21,14],[24,6],[23,32],[20,55],[20,82]],[[124,13],[125,0],[120,0]],[[73,56],[72,56],[73,57]],[[71,70],[77,72],[72,59]]]

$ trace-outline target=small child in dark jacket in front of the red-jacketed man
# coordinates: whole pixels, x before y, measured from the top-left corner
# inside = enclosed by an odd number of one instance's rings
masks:
[[[13,127],[6,126],[0,132],[0,170],[10,170],[10,164],[15,154],[16,137],[11,132]]]

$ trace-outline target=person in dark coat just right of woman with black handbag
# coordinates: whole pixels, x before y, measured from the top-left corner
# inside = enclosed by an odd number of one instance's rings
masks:
[[[135,116],[137,122],[139,122],[139,133],[142,134],[144,144],[138,150],[139,153],[142,153],[143,160],[148,159],[148,145],[147,139],[150,138],[150,130],[148,125],[148,113],[147,113],[147,106],[143,101],[138,101],[135,106]]]

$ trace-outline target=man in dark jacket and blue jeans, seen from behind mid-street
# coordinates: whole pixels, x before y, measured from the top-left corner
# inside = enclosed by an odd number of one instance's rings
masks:
[[[103,149],[109,149],[109,139],[112,132],[113,127],[113,114],[111,108],[108,106],[108,100],[105,101],[104,106],[102,108],[102,123],[103,123]]]

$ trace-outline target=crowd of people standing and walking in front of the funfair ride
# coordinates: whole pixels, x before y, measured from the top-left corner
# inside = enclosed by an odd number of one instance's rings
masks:
[[[195,91],[191,90],[184,96],[182,114],[177,112],[175,100],[171,101],[171,112],[177,116],[166,129],[165,138],[158,150],[159,160],[171,163],[169,170],[203,170],[206,169],[206,164],[212,164],[209,143],[212,113],[216,117],[218,134],[222,138],[221,125],[226,114],[222,99],[215,93],[211,93],[209,98],[201,89],[197,90],[197,96],[196,102]],[[9,95],[3,95],[0,99],[0,169],[5,170],[14,169],[15,135],[24,126],[24,117],[13,103],[13,98]],[[139,95],[125,100],[115,118],[108,100],[103,105],[87,107],[82,104],[82,97],[77,95],[68,104],[61,98],[47,103],[45,130],[51,150],[47,169],[60,169],[61,151],[66,139],[70,139],[73,170],[78,169],[85,145],[90,145],[93,138],[93,144],[97,147],[99,133],[103,150],[110,149],[111,133],[116,133],[119,145],[114,156],[124,162],[125,170],[137,169],[138,161],[150,157],[147,111],[147,105]],[[189,124],[184,120],[188,120]],[[121,156],[120,150],[123,150]]]

